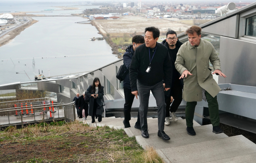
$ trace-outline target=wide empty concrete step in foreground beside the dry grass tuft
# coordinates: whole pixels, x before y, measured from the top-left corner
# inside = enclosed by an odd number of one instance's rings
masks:
[[[166,163],[216,163],[256,152],[256,144],[242,135],[156,150]],[[252,155],[252,157],[255,157]],[[254,159],[255,162],[255,159]],[[223,163],[226,163],[225,161]]]

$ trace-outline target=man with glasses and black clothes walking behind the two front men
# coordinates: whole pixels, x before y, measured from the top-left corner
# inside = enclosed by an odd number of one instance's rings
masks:
[[[164,124],[170,125],[170,115],[174,121],[178,121],[175,112],[182,101],[183,80],[179,79],[180,73],[174,66],[178,50],[182,43],[178,40],[176,32],[171,30],[166,33],[166,40],[164,40],[162,44],[168,48],[170,58],[172,59],[172,88],[171,91],[166,92],[164,95],[166,103],[166,118]]]

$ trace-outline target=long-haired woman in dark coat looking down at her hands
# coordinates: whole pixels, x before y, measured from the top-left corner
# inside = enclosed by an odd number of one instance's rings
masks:
[[[101,86],[99,78],[94,78],[86,93],[90,97],[88,115],[92,116],[92,123],[95,122],[95,115],[98,116],[98,122],[101,122],[104,111],[104,86]]]

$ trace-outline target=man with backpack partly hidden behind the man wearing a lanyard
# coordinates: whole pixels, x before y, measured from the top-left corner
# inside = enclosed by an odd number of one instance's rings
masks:
[[[134,51],[138,46],[141,44],[144,44],[144,37],[141,35],[136,35],[133,36],[132,38],[132,45],[128,46],[126,49],[126,52],[124,54],[124,65],[130,70],[130,64],[132,62],[132,56],[134,54]],[[132,108],[132,103],[134,100],[135,95],[132,94],[132,89],[131,89],[131,83],[130,83],[130,77],[129,73],[125,76],[124,78],[124,128],[131,127],[129,121],[131,120],[131,108]],[[136,129],[140,129],[140,112],[138,111],[138,119],[137,122],[135,123],[134,127]]]

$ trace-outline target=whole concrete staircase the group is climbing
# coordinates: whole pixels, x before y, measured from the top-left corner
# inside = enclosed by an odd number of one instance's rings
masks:
[[[143,138],[141,131],[134,128],[137,118],[130,120],[129,128],[124,128],[124,118],[107,117],[102,118],[100,123],[96,122],[98,126],[108,125],[115,129],[124,129],[129,137],[135,136],[144,149],[146,146],[154,147],[166,163],[256,163],[256,144],[246,137],[215,134],[212,132],[212,125],[201,126],[196,121],[196,135],[188,135],[186,120],[180,117],[178,119],[177,122],[170,119],[170,125],[164,128],[171,138],[169,141],[157,136],[157,118],[148,118],[148,139]],[[96,127],[96,123],[92,124],[89,117],[87,120],[87,124]]]

